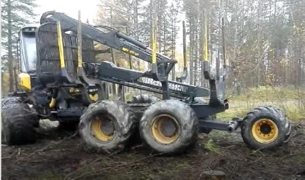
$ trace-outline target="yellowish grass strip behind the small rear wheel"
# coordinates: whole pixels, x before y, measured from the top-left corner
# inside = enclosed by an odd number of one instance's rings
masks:
[[[250,88],[239,96],[228,97],[229,109],[217,114],[217,119],[231,120],[243,118],[252,108],[259,105],[272,105],[280,108],[292,121],[305,118],[305,90],[294,87],[261,86]]]

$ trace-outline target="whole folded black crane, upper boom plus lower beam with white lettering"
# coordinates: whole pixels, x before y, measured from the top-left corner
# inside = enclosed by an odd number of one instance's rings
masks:
[[[170,96],[174,96],[182,99],[190,98],[190,100],[192,100],[193,97],[209,95],[208,89],[187,85],[175,81],[168,81],[168,74],[171,71],[171,69],[174,67],[175,63],[177,63],[177,61],[169,57],[166,57],[160,53],[157,53],[154,56],[156,58],[156,61],[153,62],[153,52],[150,48],[148,48],[142,42],[133,39],[119,32],[118,30],[115,30],[110,27],[99,26],[108,30],[107,32],[104,32],[102,30],[97,29],[96,27],[81,23],[80,20],[78,22],[77,20],[67,15],[64,15],[63,13],[57,13],[57,12],[44,13],[40,19],[40,23],[42,24],[40,27],[44,27],[46,25],[54,26],[54,24],[61,24],[60,31],[66,32],[70,36],[72,34],[72,36],[74,37],[73,38],[74,41],[75,41],[75,37],[77,37],[78,40],[82,39],[80,37],[84,37],[86,39],[90,39],[92,41],[96,41],[103,45],[112,47],[114,49],[126,52],[139,59],[152,63],[154,65],[153,67],[157,67],[157,69],[155,70],[153,68],[153,70],[151,71],[137,72],[134,70],[128,70],[128,69],[116,67],[115,64],[108,62],[101,62],[101,63],[86,62],[84,63],[86,64],[86,68],[87,68],[85,72],[86,74],[87,72],[90,72],[87,75],[90,74],[89,76],[93,80],[99,79],[102,81],[108,81],[115,84],[133,87],[136,89],[161,93],[163,99],[170,99]],[[40,29],[41,28],[39,28],[39,30]],[[41,30],[43,31],[43,29]],[[69,33],[68,31],[72,31],[72,33]],[[78,36],[80,37],[76,36],[78,32],[79,32]],[[37,34],[39,36],[39,34],[41,33],[37,33]],[[42,37],[44,37],[43,34],[41,35]],[[42,39],[46,39],[46,38],[42,38]],[[48,45],[48,41],[46,45]],[[40,44],[38,46],[39,47],[42,46],[44,48],[46,47],[45,45],[40,45]],[[66,42],[64,43],[64,46],[66,47],[64,48],[64,50],[67,51],[67,53],[64,54],[69,54],[69,49],[71,47],[74,49],[77,47],[80,50],[83,48],[81,43],[76,44],[75,42],[74,43],[72,42],[71,45],[69,45],[69,42]],[[42,56],[45,56],[44,48],[38,50],[39,52],[40,51],[42,52]],[[52,47],[50,46],[50,48]],[[82,57],[81,55],[79,56]],[[48,59],[48,57],[45,57],[45,59]],[[73,67],[70,68],[71,70],[69,70],[69,67],[67,67],[68,71],[75,72],[73,70]],[[81,66],[78,67],[80,69],[83,68]],[[80,69],[78,69],[77,73],[74,73],[77,74],[79,77],[80,77],[80,73],[82,72],[80,71]],[[82,75],[81,77],[82,78],[86,77],[86,75],[85,76]],[[89,83],[89,84],[94,84],[94,83]]]

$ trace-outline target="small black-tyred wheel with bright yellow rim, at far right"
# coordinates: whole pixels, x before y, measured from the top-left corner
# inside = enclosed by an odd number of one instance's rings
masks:
[[[243,141],[254,150],[274,149],[289,140],[290,121],[274,107],[252,109],[241,124]]]

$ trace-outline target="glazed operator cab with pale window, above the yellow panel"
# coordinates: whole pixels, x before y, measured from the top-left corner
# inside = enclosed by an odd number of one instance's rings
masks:
[[[25,27],[19,31],[20,71],[22,73],[36,72],[36,27]]]

